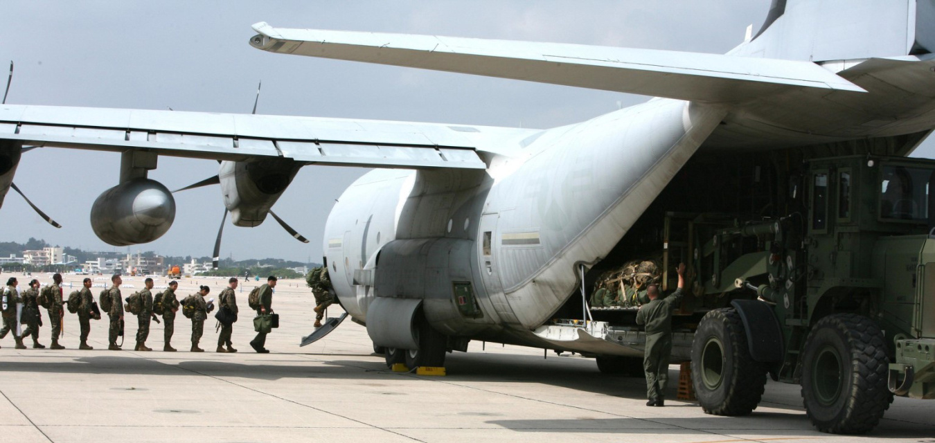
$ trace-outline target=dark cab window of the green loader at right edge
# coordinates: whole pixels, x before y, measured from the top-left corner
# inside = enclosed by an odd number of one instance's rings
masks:
[[[883,219],[927,221],[928,179],[932,170],[921,167],[883,166],[880,217]]]

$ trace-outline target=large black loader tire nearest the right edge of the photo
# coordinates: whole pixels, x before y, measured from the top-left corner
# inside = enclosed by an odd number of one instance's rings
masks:
[[[802,401],[819,431],[864,434],[889,408],[889,359],[876,323],[857,314],[817,323],[802,353]]]

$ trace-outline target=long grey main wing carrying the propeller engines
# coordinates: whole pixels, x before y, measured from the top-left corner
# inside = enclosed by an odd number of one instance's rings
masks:
[[[0,140],[87,150],[241,161],[484,169],[493,140],[538,131],[404,121],[322,119],[101,107],[0,105]]]

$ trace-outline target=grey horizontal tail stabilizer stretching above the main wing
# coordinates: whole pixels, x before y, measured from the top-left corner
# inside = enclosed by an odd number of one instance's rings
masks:
[[[392,64],[503,79],[639,93],[704,103],[736,103],[813,89],[866,92],[809,62],[600,46],[415,36],[253,25],[260,50]]]

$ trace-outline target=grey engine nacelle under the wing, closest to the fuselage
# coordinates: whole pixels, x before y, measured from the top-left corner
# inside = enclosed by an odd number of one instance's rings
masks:
[[[218,178],[231,221],[244,227],[260,225],[301,166],[283,158],[221,162]]]

